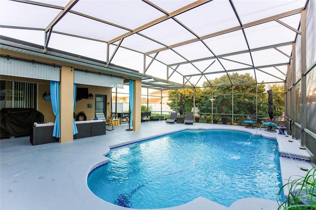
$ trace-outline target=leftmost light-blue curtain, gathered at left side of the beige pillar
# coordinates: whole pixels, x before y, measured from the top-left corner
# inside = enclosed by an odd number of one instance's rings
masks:
[[[53,137],[60,138],[60,119],[59,119],[59,82],[50,81],[50,98],[53,112],[56,116],[53,129]]]

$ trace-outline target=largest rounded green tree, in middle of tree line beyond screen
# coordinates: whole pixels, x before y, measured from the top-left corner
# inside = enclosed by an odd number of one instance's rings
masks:
[[[233,82],[233,86],[224,86],[224,84]],[[208,87],[212,84],[214,87]],[[236,85],[235,85],[236,84]],[[256,85],[256,80],[249,74],[238,74],[237,72],[229,74],[229,77],[225,74],[219,78],[205,81],[203,83],[205,87],[202,92],[202,97],[198,103],[200,112],[210,113],[211,102],[210,98],[215,99],[213,102],[213,112],[232,114],[233,105],[233,88],[234,88],[234,114],[256,114],[256,88],[258,93],[265,92],[265,85]],[[256,87],[257,86],[257,87]],[[258,97],[258,105],[266,103],[265,97]],[[268,113],[268,105],[264,105],[261,109],[258,109],[258,115]]]

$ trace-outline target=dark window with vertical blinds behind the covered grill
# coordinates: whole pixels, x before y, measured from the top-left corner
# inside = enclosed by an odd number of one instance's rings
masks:
[[[1,80],[0,107],[37,109],[37,89],[36,83]]]

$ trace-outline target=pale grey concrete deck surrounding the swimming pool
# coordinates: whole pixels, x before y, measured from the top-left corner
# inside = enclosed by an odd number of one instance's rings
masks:
[[[90,170],[106,162],[103,156],[109,147],[183,129],[234,129],[276,139],[280,152],[297,158],[309,156],[299,148],[299,142],[291,137],[266,132],[264,129],[249,129],[244,126],[194,123],[166,124],[164,121],[143,122],[141,131],[126,131],[128,124],[115,126],[106,135],[74,140],[67,143],[48,143],[33,146],[29,137],[0,140],[0,209],[107,209],[123,210],[96,197],[88,188],[86,178]],[[300,160],[280,157],[283,182],[292,175],[304,176],[300,167],[313,168]],[[168,210],[276,210],[276,201],[245,198],[225,207],[205,198],[195,200]]]

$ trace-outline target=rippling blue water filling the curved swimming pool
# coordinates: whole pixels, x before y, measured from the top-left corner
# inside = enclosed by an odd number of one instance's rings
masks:
[[[202,196],[229,207],[247,198],[277,200],[276,140],[228,130],[186,130],[111,151],[89,174],[101,199],[134,209],[179,206]]]

